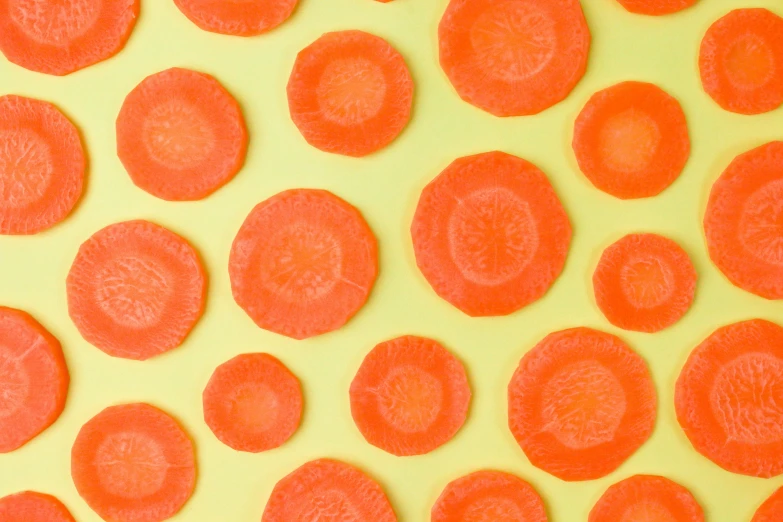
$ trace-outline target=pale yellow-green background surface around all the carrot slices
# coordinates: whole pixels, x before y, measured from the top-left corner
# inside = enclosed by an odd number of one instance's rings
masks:
[[[0,91],[50,100],[83,132],[90,167],[74,214],[35,237],[0,237],[0,303],[33,313],[61,341],[72,384],[65,412],[22,449],[0,455],[0,495],[34,489],[57,495],[81,522],[99,518],[70,479],[79,427],[102,408],[148,401],[179,418],[198,451],[195,494],[177,521],[251,522],[275,482],[322,456],[354,463],[386,489],[400,520],[429,520],[443,486],[479,468],[530,480],[556,522],[586,520],[604,489],[634,473],[666,475],[690,488],[712,522],[749,521],[781,478],[733,475],[691,449],[679,429],[674,381],[689,351],[716,327],[751,317],[783,322],[783,303],[732,287],[709,262],[700,227],[712,181],[736,154],[783,137],[783,110],[746,117],[722,111],[701,90],[698,46],[710,23],[746,0],[701,0],[677,15],[648,18],[615,0],[583,0],[593,33],[584,80],[563,103],[533,117],[498,119],[463,103],[437,61],[437,23],[446,0],[302,0],[277,30],[243,39],[199,30],[172,0],[142,0],[142,15],[116,58],[65,78],[32,73],[0,58]],[[783,15],[779,0],[753,5]],[[413,119],[387,149],[364,159],[309,147],[288,116],[285,85],[299,49],[321,33],[364,29],[387,38],[416,80]],[[171,66],[215,75],[242,104],[251,130],[245,168],[204,201],[169,203],[133,186],[115,155],[114,120],[124,96],[145,76]],[[572,122],[594,91],[621,80],[655,82],[678,98],[693,150],[680,179],[661,196],[622,202],[592,188],[570,149]],[[416,269],[408,227],[418,194],[462,155],[504,150],[541,167],[574,225],[562,277],[539,302],[509,317],[471,319],[441,301]],[[297,342],[253,325],[234,303],[227,273],[234,234],[256,203],[287,188],[329,189],[358,206],[379,238],[381,275],[368,305],[346,328]],[[79,336],[68,318],[65,276],[79,244],[99,228],[145,218],[199,249],[210,274],[207,312],[187,342],[156,359],[112,359]],[[695,304],[674,327],[645,335],[618,331],[592,299],[590,276],[601,250],[633,231],[659,232],[691,254],[700,281]],[[649,362],[660,400],[652,439],[604,479],[565,483],[533,468],[506,426],[506,385],[520,357],[547,333],[588,325],[619,334]],[[454,440],[421,457],[396,458],[362,439],[350,417],[348,386],[377,342],[419,334],[442,341],[466,364],[474,390],[470,417]],[[304,422],[282,448],[251,455],[220,444],[202,420],[201,391],[232,356],[266,351],[301,379]]]

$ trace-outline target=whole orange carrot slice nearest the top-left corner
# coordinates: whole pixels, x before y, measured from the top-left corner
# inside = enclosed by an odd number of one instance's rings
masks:
[[[212,76],[173,68],[145,78],[117,117],[117,155],[133,183],[161,199],[203,199],[245,161],[239,104]]]

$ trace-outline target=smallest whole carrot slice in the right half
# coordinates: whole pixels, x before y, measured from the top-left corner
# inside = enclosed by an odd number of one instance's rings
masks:
[[[696,291],[696,269],[674,241],[629,234],[604,250],[593,274],[598,307],[615,326],[658,332],[685,315]]]

